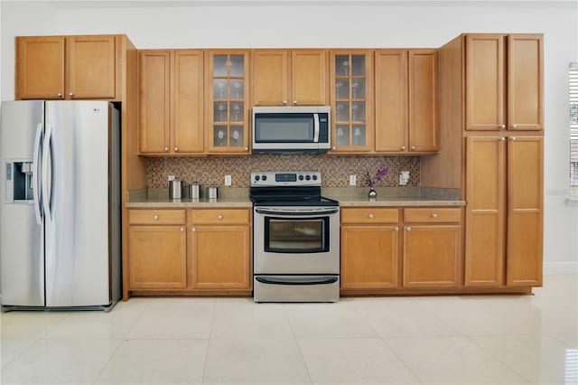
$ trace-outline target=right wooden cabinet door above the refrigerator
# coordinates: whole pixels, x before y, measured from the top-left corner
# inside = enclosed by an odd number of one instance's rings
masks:
[[[115,99],[117,66],[115,36],[67,38],[70,99]]]

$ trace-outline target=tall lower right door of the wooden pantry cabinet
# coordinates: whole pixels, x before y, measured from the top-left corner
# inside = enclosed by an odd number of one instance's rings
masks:
[[[508,286],[542,286],[544,138],[508,138]]]

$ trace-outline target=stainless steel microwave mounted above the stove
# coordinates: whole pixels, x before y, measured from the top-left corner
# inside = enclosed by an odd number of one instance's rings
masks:
[[[331,146],[329,106],[253,108],[253,154],[322,154]]]

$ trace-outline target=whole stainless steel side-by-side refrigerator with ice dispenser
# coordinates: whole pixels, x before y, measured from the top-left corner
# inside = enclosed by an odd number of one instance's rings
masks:
[[[107,101],[3,101],[2,310],[109,310],[121,296],[120,115]]]

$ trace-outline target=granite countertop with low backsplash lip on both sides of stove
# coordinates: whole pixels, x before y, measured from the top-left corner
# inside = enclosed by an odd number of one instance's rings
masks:
[[[460,192],[453,189],[433,189],[425,187],[376,188],[378,197],[368,199],[367,188],[323,188],[322,196],[340,202],[341,207],[355,206],[465,206],[460,200]],[[136,190],[129,194],[126,207],[135,208],[210,208],[210,207],[252,207],[248,189],[221,188],[219,198],[191,200],[168,198],[167,189]]]

